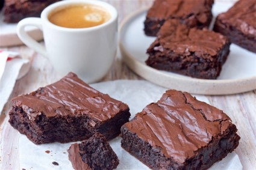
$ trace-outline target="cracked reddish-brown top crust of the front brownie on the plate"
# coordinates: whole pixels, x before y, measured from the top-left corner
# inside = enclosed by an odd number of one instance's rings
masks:
[[[228,38],[222,34],[208,29],[189,28],[179,20],[169,19],[161,27],[147,53],[152,50],[166,53],[172,51],[186,56],[196,53],[203,58],[215,58],[227,43]]]

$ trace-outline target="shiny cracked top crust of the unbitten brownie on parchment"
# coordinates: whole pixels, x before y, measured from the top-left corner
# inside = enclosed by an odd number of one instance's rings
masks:
[[[194,151],[220,138],[231,126],[230,118],[189,93],[168,90],[125,126],[155,150],[183,163]]]

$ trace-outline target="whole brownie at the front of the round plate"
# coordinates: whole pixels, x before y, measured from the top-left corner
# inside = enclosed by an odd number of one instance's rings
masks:
[[[201,79],[216,79],[229,54],[229,40],[208,29],[189,28],[166,20],[149,46],[146,64]]]

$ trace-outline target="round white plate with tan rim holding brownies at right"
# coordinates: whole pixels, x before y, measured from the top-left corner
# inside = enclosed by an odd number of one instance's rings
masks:
[[[216,2],[213,6],[214,17],[232,5],[232,2]],[[131,14],[120,27],[120,52],[123,61],[135,73],[157,85],[194,94],[236,94],[256,89],[256,53],[235,44],[231,44],[231,52],[216,80],[196,79],[146,65],[146,49],[155,40],[143,31],[147,10],[144,8]]]

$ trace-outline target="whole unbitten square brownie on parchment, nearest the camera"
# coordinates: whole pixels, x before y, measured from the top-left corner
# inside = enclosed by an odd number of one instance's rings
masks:
[[[223,111],[168,90],[121,127],[121,145],[152,169],[207,169],[239,145],[236,132]]]

